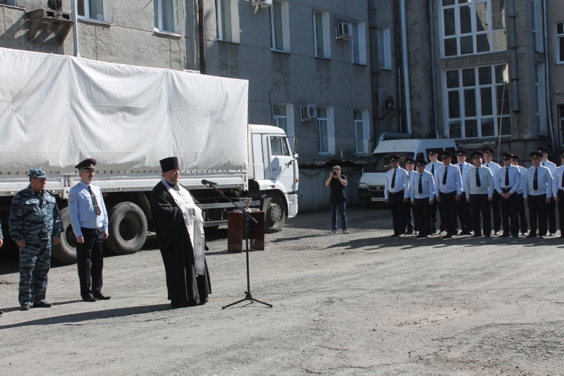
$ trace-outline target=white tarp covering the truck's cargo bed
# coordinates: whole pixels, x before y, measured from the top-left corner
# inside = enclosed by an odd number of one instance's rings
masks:
[[[0,173],[246,171],[248,82],[0,48]]]

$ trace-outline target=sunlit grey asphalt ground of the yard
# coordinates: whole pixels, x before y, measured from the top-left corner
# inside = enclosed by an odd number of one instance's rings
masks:
[[[0,375],[564,375],[564,241],[391,238],[386,209],[299,214],[251,251],[208,234],[209,303],[171,309],[154,238],[104,259],[109,301],[54,264],[53,308],[18,309],[0,264]],[[559,233],[557,234],[557,236]]]

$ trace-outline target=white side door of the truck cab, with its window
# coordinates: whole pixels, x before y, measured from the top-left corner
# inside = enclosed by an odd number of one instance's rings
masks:
[[[270,178],[281,183],[286,187],[286,192],[293,192],[294,177],[294,157],[288,145],[288,138],[285,136],[267,136],[270,158]]]

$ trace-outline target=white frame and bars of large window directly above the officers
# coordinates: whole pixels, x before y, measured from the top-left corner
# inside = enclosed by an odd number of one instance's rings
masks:
[[[496,68],[505,66],[505,69],[502,69],[503,72],[503,81],[498,82],[496,80]],[[481,83],[480,82],[480,69],[481,68],[489,68],[489,83]],[[469,68],[456,68],[456,69],[448,69],[444,70],[442,74],[443,80],[443,103],[445,104],[443,107],[443,116],[444,116],[444,126],[445,126],[445,134],[447,138],[455,138],[455,139],[466,139],[466,140],[473,140],[479,138],[488,138],[488,137],[499,137],[499,130],[500,130],[500,121],[501,123],[506,123],[509,125],[508,133],[502,133],[501,137],[509,136],[511,132],[511,124],[510,124],[510,101],[509,101],[509,86],[508,86],[508,64],[494,64],[494,65],[486,65],[486,66],[472,66]],[[474,84],[473,85],[465,85],[465,78],[463,77],[463,71],[474,71]],[[458,82],[456,87],[447,87],[447,74],[448,72],[458,72]],[[499,74],[499,73],[497,73]],[[453,76],[454,77],[454,76]],[[498,99],[498,91],[502,87],[502,95],[503,98]],[[488,90],[491,95],[491,114],[484,114],[485,109],[482,107],[482,97],[484,97],[482,90]],[[474,115],[468,115],[467,112],[467,103],[465,102],[465,95],[467,95],[470,90],[474,90]],[[450,117],[450,92],[458,92],[458,116]],[[487,91],[486,91],[487,92]],[[501,106],[498,108],[498,103],[501,103]],[[505,108],[507,106],[508,108]],[[503,111],[503,114],[500,113]],[[475,121],[475,125],[477,128],[477,134],[472,136],[467,136],[466,130],[466,123],[470,123],[471,121]],[[482,126],[487,121],[491,121],[493,123],[494,133],[492,135],[482,135]],[[508,122],[508,123],[507,123]],[[451,125],[456,125],[460,128],[460,136],[459,135],[452,135],[450,131]],[[506,131],[506,130],[505,130]]]

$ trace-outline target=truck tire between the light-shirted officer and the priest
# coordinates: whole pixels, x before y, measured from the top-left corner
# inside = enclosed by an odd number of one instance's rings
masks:
[[[107,245],[116,255],[140,250],[147,239],[147,218],[133,202],[121,202],[109,214]]]

